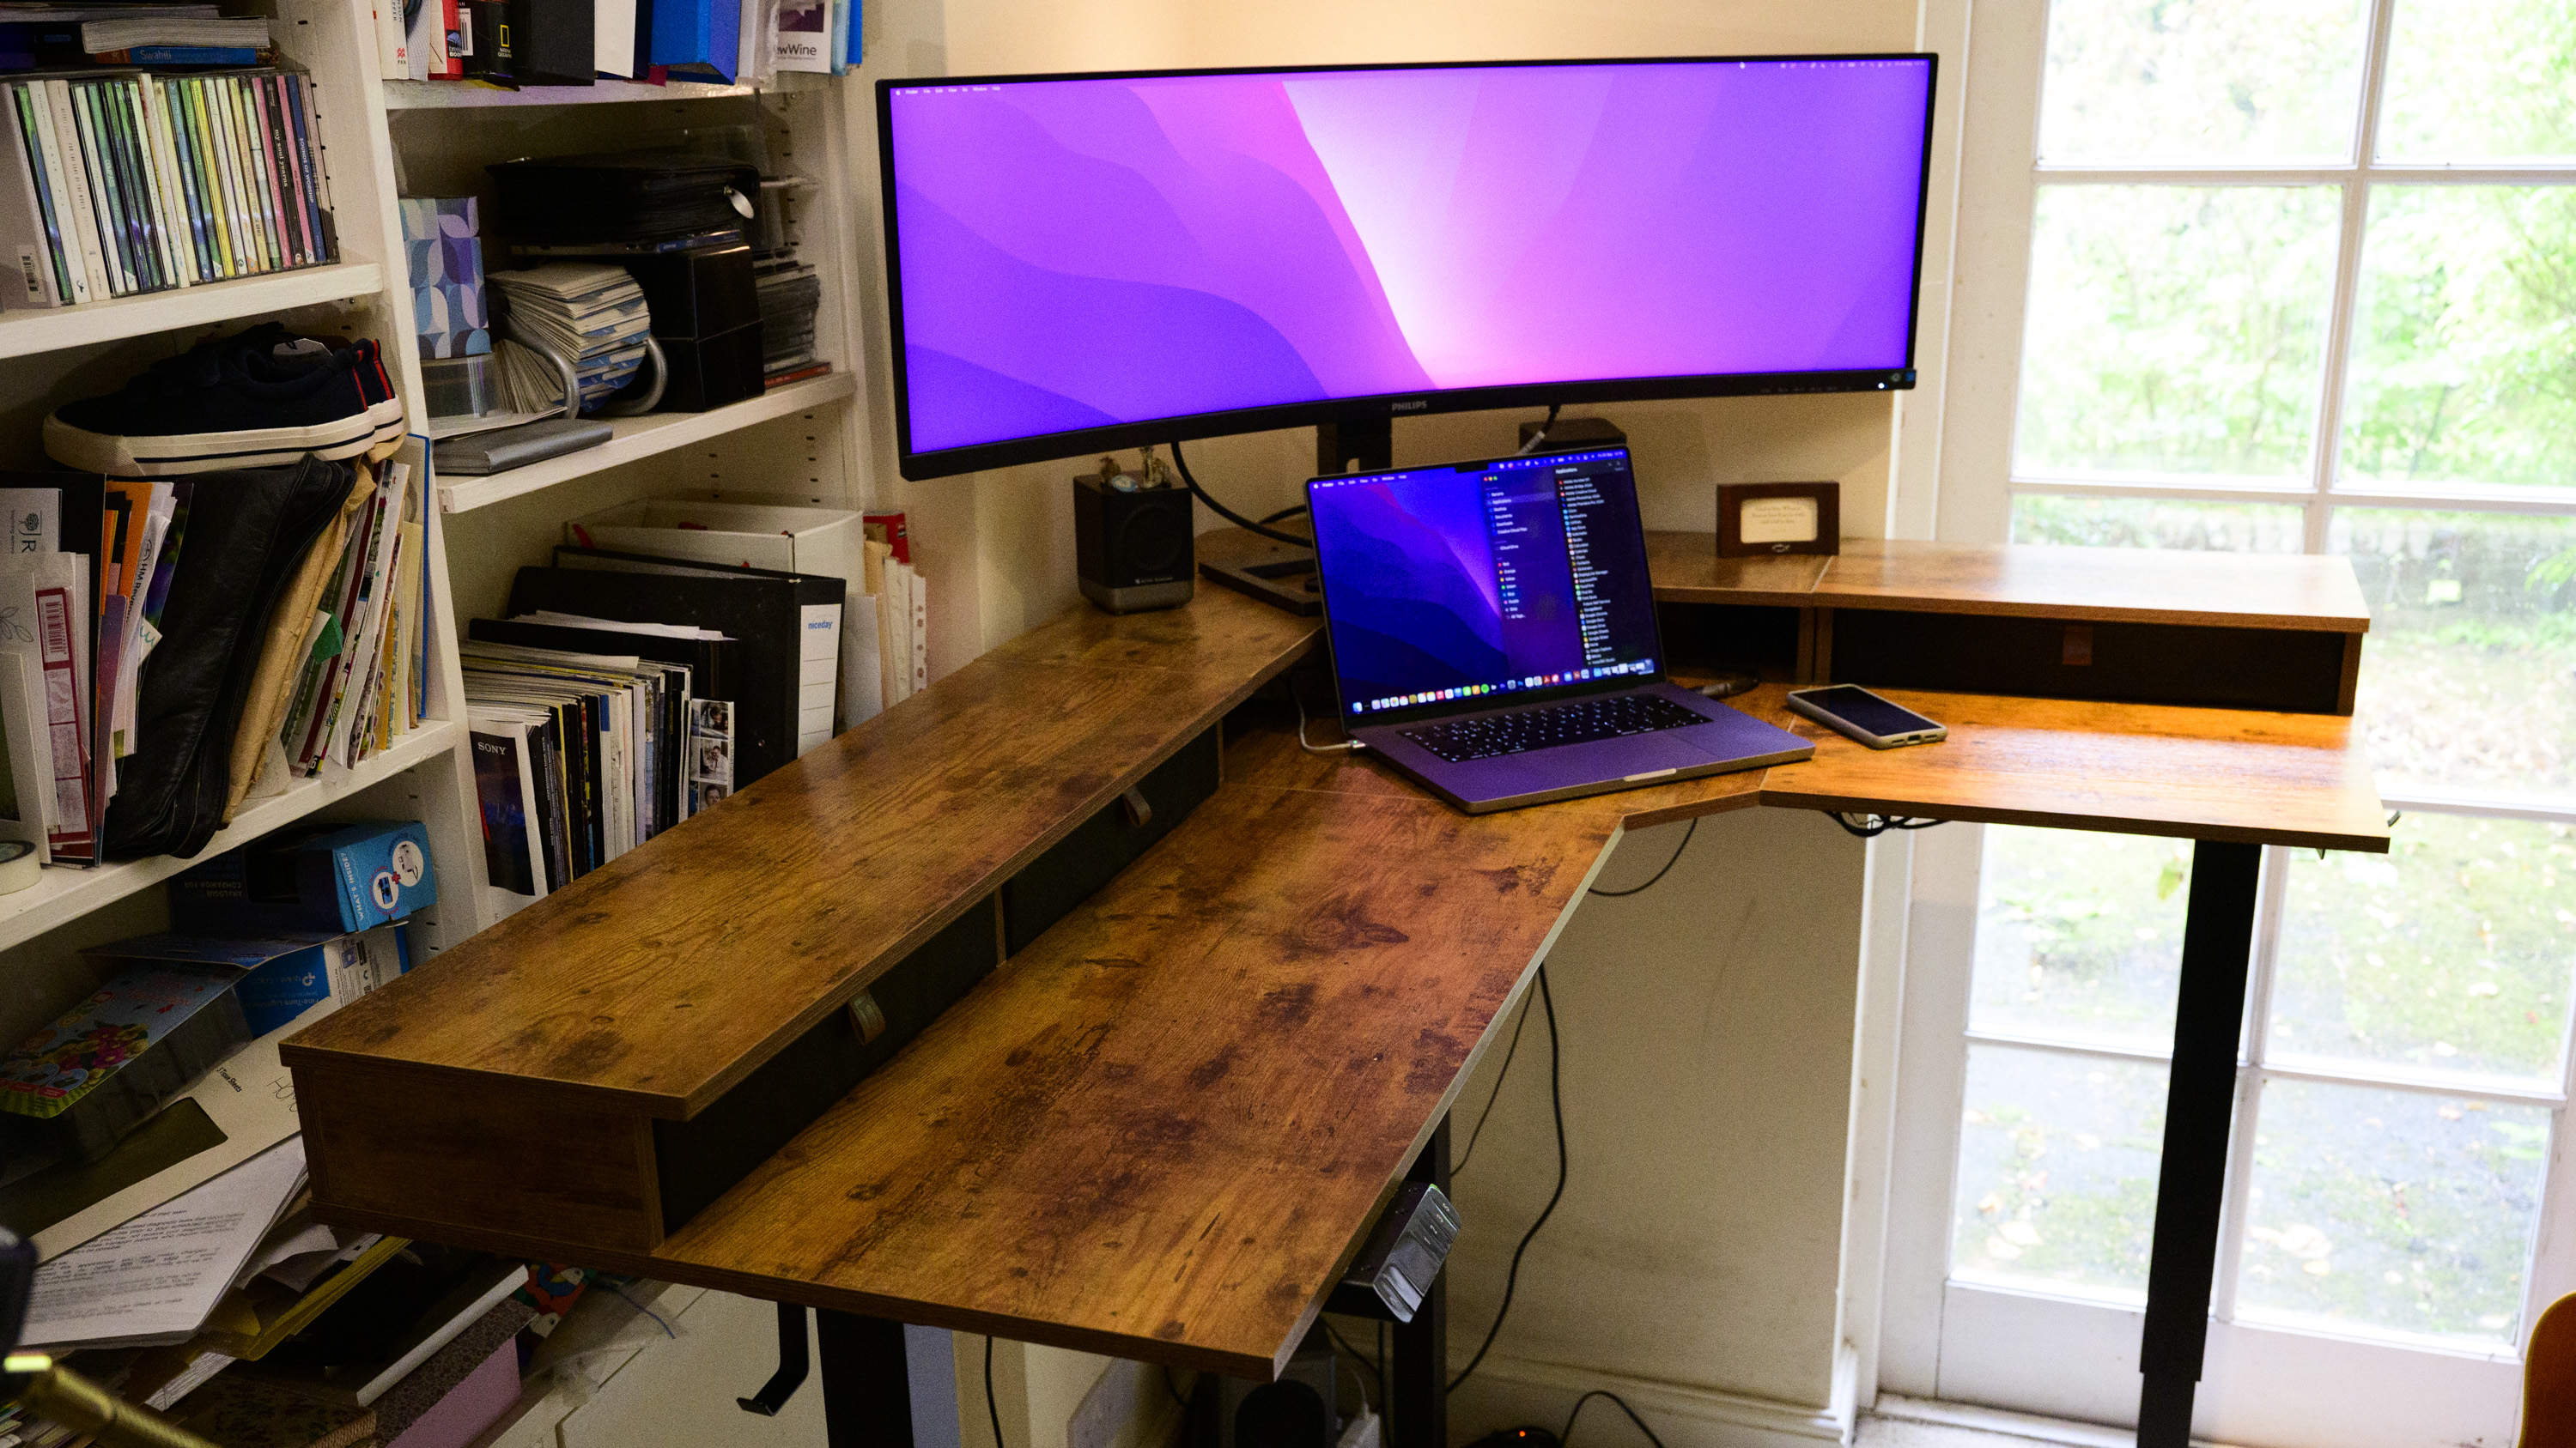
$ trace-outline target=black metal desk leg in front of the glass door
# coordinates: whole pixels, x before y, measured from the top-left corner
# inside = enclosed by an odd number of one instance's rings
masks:
[[[2236,1046],[2244,1036],[2246,969],[2254,958],[2254,881],[2262,845],[2192,845],[2192,894],[2182,920],[2182,992],[2174,1000],[2174,1069],[2164,1087],[2164,1167],[2156,1175],[2156,1242],[2146,1268],[2146,1335],[2138,1345],[2138,1448],[2187,1448],[2200,1355],[2210,1340],[2210,1278],[2218,1214],[2228,1188],[2228,1123],[2236,1116]]]

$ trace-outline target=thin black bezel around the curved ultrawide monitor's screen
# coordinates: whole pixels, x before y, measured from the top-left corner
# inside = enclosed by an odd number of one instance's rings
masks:
[[[935,90],[951,85],[1041,85],[1064,80],[1167,80],[1200,75],[1327,75],[1368,70],[1533,70],[1533,67],[1597,67],[1597,64],[1788,64],[1811,59],[1919,59],[1924,62],[1924,149],[1914,178],[1914,278],[1906,299],[1906,366],[1860,371],[1770,371],[1770,374],[1700,374],[1700,376],[1607,376],[1587,381],[1515,381],[1497,386],[1455,386],[1432,392],[1388,392],[1376,397],[1332,397],[1319,402],[1278,402],[1267,407],[1236,407],[1226,412],[1188,412],[1180,417],[1154,417],[1146,423],[1110,423],[1105,428],[1077,428],[1066,433],[1033,433],[997,443],[971,443],[963,448],[938,448],[917,453],[912,448],[912,379],[904,368],[904,286],[902,237],[894,198],[894,93]],[[886,353],[894,368],[894,464],[912,482],[958,477],[997,466],[1061,461],[1095,451],[1133,448],[1144,443],[1195,443],[1234,433],[1270,433],[1280,428],[1309,428],[1319,423],[1350,423],[1378,417],[1430,417],[1440,412],[1489,412],[1502,407],[1579,407],[1595,402],[1672,402],[1698,397],[1793,397],[1814,392],[1906,392],[1914,386],[1914,350],[1922,340],[1924,294],[1924,227],[1932,211],[1932,131],[1937,126],[1940,54],[1937,52],[1811,52],[1811,54],[1690,54],[1690,57],[1564,57],[1564,59],[1443,59],[1443,62],[1373,62],[1373,64],[1236,64],[1198,70],[1069,70],[1030,75],[938,75],[891,77],[876,82],[876,167],[878,167],[878,222],[886,240]]]

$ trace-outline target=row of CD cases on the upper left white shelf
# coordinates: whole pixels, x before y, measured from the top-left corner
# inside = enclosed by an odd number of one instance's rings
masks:
[[[291,70],[0,85],[8,307],[64,307],[337,258],[312,85]]]

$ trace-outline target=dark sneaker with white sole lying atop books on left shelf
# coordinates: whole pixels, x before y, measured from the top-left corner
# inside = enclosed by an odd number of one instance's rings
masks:
[[[330,348],[283,327],[252,327],[155,363],[121,392],[54,410],[44,451],[59,464],[113,477],[170,477],[278,466],[307,453],[350,459],[384,428],[402,435],[402,402],[381,384],[374,345]],[[381,384],[368,397],[361,374]],[[381,423],[384,412],[392,423]]]

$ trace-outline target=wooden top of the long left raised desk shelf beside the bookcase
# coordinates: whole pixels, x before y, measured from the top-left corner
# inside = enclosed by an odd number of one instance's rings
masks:
[[[1077,608],[335,1013],[286,1062],[536,1080],[685,1118],[1288,667],[1311,629],[1231,595]]]

